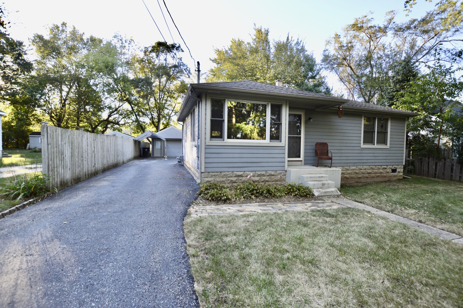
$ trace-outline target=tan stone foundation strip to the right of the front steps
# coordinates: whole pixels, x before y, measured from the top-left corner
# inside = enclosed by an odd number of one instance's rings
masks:
[[[341,182],[369,182],[401,179],[403,176],[403,165],[390,166],[347,166],[336,167],[342,170]],[[397,169],[396,173],[392,173]]]

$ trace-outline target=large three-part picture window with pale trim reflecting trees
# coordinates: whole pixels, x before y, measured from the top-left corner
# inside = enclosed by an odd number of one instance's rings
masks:
[[[282,142],[282,104],[211,99],[211,141]]]

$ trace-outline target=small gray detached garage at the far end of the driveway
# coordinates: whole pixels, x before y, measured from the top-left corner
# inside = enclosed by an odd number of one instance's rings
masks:
[[[163,128],[159,132],[147,131],[135,138],[150,140],[151,157],[177,157],[182,153],[181,130],[175,126]]]

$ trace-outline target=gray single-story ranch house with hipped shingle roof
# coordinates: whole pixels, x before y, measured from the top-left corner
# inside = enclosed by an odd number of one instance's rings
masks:
[[[235,185],[252,173],[256,182],[335,195],[341,182],[402,177],[407,118],[417,113],[276,84],[190,84],[178,121],[184,165],[197,182]],[[323,160],[316,167],[318,142],[332,151],[332,168]]]

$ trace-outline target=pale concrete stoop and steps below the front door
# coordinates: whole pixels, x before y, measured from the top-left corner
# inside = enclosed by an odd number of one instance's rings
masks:
[[[294,166],[288,167],[286,182],[302,183],[310,187],[316,197],[341,195],[341,170],[338,168]]]

